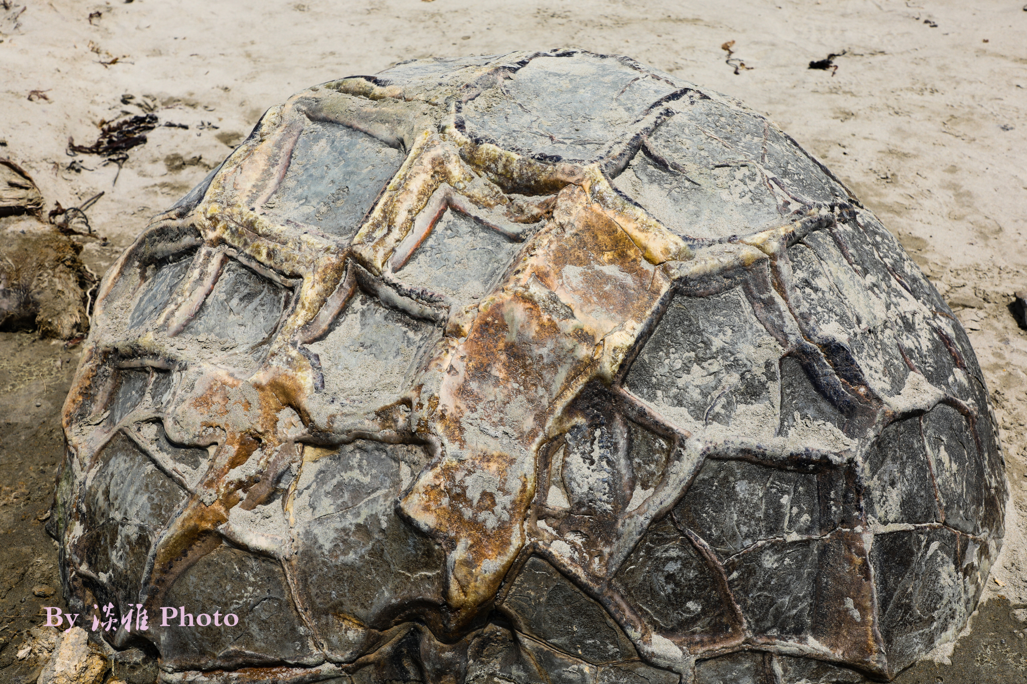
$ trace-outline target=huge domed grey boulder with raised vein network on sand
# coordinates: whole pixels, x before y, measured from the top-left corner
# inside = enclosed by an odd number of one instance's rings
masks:
[[[65,431],[75,610],[239,615],[151,622],[168,682],[889,679],[965,625],[1007,498],[873,213],[580,50],[269,110],[108,273]]]

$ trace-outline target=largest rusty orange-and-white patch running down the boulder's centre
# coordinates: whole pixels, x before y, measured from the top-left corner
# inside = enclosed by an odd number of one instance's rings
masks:
[[[646,320],[669,287],[662,278],[653,291],[654,267],[580,188],[560,193],[553,216],[463,343],[439,357],[448,372],[426,417],[442,453],[401,504],[449,553],[457,622],[491,599],[523,547],[537,450],[602,376],[605,352],[594,352],[619,326]]]

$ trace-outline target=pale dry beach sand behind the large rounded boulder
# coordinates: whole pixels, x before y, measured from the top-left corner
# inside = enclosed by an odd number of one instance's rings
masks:
[[[1022,669],[1023,625],[1009,608],[1027,605],[1027,331],[1006,306],[1027,289],[1023,2],[3,0],[0,156],[29,170],[47,209],[106,193],[88,213],[107,242],[89,240],[83,252],[100,273],[266,108],[329,79],[415,57],[577,46],[629,54],[740,98],[877,212],[968,329],[1013,492],[986,598],[1009,600],[989,605],[1004,611],[999,621]],[[747,67],[737,74],[721,49],[731,40]],[[807,69],[829,53],[843,53],[836,72]],[[66,154],[69,136],[89,144],[102,122],[151,110],[188,130],[155,129],[119,173],[100,157]],[[22,394],[0,399],[7,425],[28,430],[41,412],[55,420],[54,406],[22,411]],[[21,515],[13,506],[0,508],[3,531]],[[998,634],[982,630],[980,638]],[[981,652],[967,657],[980,666]],[[903,678],[918,681],[911,673]]]

